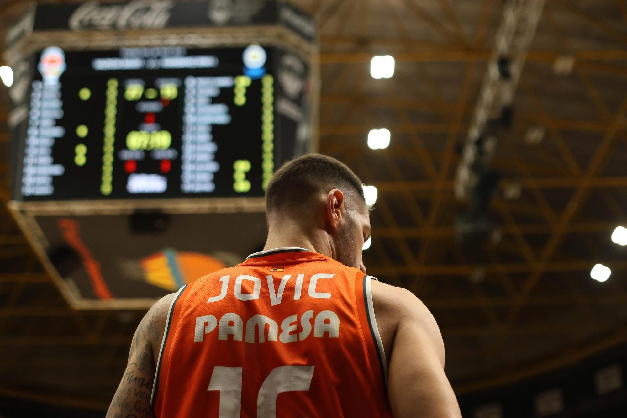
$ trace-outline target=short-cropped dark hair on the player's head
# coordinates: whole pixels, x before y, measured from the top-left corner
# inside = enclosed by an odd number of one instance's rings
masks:
[[[303,204],[320,190],[339,189],[354,194],[366,204],[364,189],[357,174],[335,158],[305,154],[278,169],[266,188],[266,212]]]

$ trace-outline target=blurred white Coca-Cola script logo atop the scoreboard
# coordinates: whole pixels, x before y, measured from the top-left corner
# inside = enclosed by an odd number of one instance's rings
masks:
[[[135,0],[128,4],[90,1],[70,16],[70,29],[159,29],[171,16],[171,0]]]

